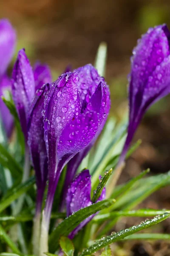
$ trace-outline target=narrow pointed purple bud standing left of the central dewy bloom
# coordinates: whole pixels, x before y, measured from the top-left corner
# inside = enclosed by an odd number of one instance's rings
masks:
[[[28,111],[35,94],[34,74],[25,50],[18,52],[12,73],[12,95],[27,140]]]

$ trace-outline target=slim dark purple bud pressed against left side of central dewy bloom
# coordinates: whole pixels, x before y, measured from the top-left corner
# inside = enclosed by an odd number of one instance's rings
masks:
[[[44,141],[44,122],[41,115],[44,106],[44,85],[38,89],[28,117],[28,146],[37,182],[37,212],[41,211],[42,199],[48,175],[48,158]]]

